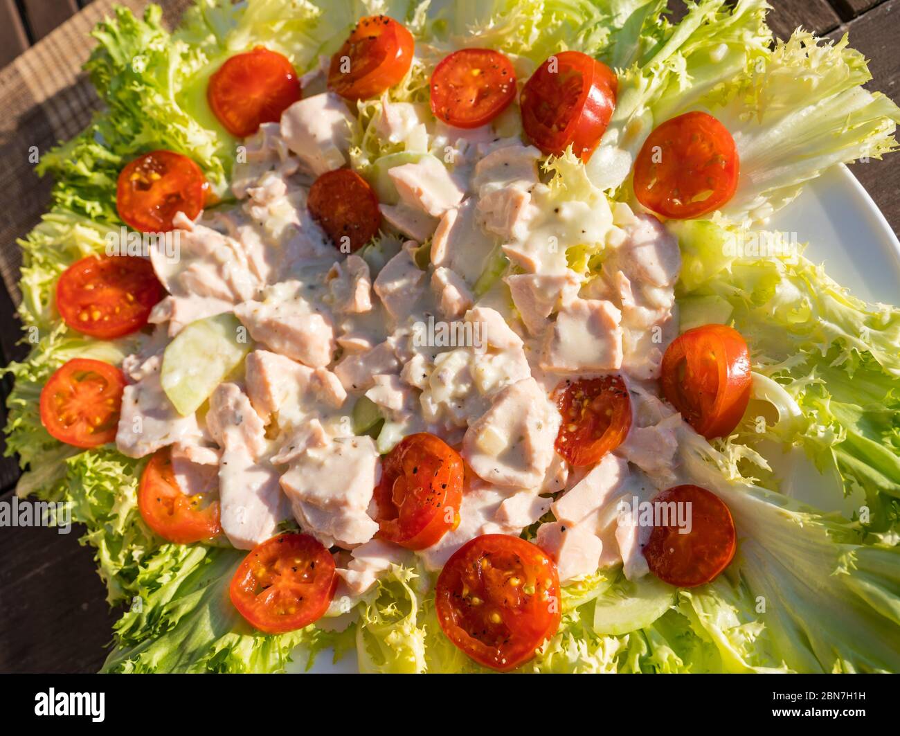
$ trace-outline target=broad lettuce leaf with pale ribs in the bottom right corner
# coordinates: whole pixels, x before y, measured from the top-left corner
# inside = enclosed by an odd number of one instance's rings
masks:
[[[865,544],[860,525],[840,515],[725,479],[725,458],[687,427],[679,445],[688,477],[714,490],[734,516],[738,552],[729,573],[741,577],[746,594],[725,602],[735,623],[750,624],[739,631],[752,645],[745,652],[755,656],[743,663],[781,662],[797,672],[900,669],[900,547]],[[716,586],[718,580],[698,590],[715,592]],[[721,606],[712,610],[687,599],[697,614],[695,624],[717,638],[721,624],[714,622],[711,629],[709,623]],[[734,657],[734,638],[716,646],[724,657]],[[733,661],[743,666],[742,660]]]

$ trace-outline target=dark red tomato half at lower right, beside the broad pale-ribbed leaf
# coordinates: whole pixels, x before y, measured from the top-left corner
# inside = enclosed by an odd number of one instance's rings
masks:
[[[684,485],[663,490],[654,504],[668,504],[670,524],[654,526],[644,547],[644,558],[657,578],[679,588],[696,588],[716,579],[734,558],[734,521],[725,502],[699,486]],[[681,518],[690,519],[690,531],[681,534],[674,519],[683,504]],[[688,527],[685,527],[688,528]]]

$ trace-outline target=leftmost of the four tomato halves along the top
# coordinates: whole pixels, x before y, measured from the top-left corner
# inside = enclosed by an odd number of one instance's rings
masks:
[[[253,135],[261,123],[281,120],[300,97],[291,60],[262,46],[229,58],[206,87],[212,112],[238,138]]]

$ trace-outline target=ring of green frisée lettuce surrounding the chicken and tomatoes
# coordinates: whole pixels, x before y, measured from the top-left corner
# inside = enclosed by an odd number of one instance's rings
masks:
[[[562,49],[617,69],[616,111],[590,162],[571,152],[545,160],[550,198],[604,212],[609,195],[628,200],[629,171],[646,136],[689,110],[713,112],[741,156],[744,176],[721,213],[667,223],[682,254],[682,330],[733,324],[752,348],[752,411],[734,435],[710,444],[685,428],[679,437],[683,469],[732,511],[735,561],[691,590],[655,578],[635,585],[619,569],[572,581],[562,591],[559,630],[521,671],[900,670],[900,310],[851,297],[799,252],[754,256],[734,247],[746,223],[790,202],[828,166],[895,148],[900,112],[862,89],[869,70],[846,39],[831,43],[797,31],[773,44],[763,0],[699,0],[677,23],[664,8],[662,0],[198,0],[172,33],[154,5],[142,18],[117,9],[98,26],[85,68],[105,110],[41,159],[40,173],[55,181],[52,209],[21,241],[20,314],[31,353],[6,369],[15,380],[6,434],[7,453],[17,453],[27,469],[18,492],[71,507],[110,602],[127,608],[104,671],[275,672],[307,667],[326,650],[336,658],[356,651],[364,671],[486,671],[441,632],[434,576],[412,562],[393,565],[338,616],[340,623],[256,632],[228,599],[246,552],[164,543],[137,507],[145,461],[112,445],[81,451],[61,444],[40,423],[40,390],[59,365],[76,356],[121,364],[148,339],[77,335],[54,305],[59,274],[102,252],[121,225],[121,166],[169,148],[202,166],[226,200],[239,141],[208,109],[212,72],[230,55],[265,45],[314,76],[322,56],[365,13],[389,13],[417,38],[407,79],[358,105],[351,163],[386,192],[385,202],[396,197],[387,167],[436,151],[428,150],[431,133],[424,143],[381,139],[384,105],[415,103],[428,115],[430,65],[463,46],[504,51],[520,81]],[[374,276],[400,247],[400,239],[381,234],[360,256]],[[602,268],[603,247],[580,244],[565,255],[587,278]],[[421,254],[428,256],[428,241]],[[506,289],[500,277],[510,265],[500,248],[485,263],[476,296]],[[235,355],[220,366],[222,375],[247,349],[228,347]],[[185,410],[201,405],[212,387],[175,383]],[[384,423],[362,399],[354,420],[360,433]],[[779,471],[779,458],[789,453],[806,458],[823,479],[812,505],[792,498]]]

